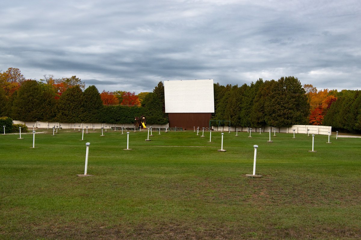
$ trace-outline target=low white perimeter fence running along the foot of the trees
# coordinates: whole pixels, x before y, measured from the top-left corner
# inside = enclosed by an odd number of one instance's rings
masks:
[[[61,128],[86,128],[88,127],[89,129],[93,128],[93,129],[101,129],[102,127],[105,128],[111,128],[111,127],[129,127],[132,128],[134,127],[133,124],[110,124],[110,123],[60,123],[60,122],[22,122],[22,121],[13,121],[15,124],[16,123],[21,123],[21,124],[25,124],[29,129],[31,129],[33,126],[34,128],[52,128],[54,126],[59,126]],[[165,127],[169,127],[169,124],[147,124],[147,127],[152,127],[153,129],[157,129],[158,127],[160,128],[165,128]],[[238,131],[240,132],[249,132],[249,128],[248,127],[231,127],[230,129],[225,126],[225,127],[217,127],[217,126],[212,126],[213,131],[223,131],[223,132],[227,132],[227,131],[232,131],[235,132],[236,129],[238,129]],[[252,132],[269,132],[269,130],[271,130],[271,132],[283,132],[283,133],[293,133],[293,130],[295,130],[295,133],[309,133],[309,134],[322,134],[322,135],[329,135],[329,132],[331,133],[331,127],[330,126],[314,126],[314,125],[292,125],[291,127],[262,127],[261,130],[260,128],[256,128],[256,127],[252,127]],[[307,132],[307,130],[309,130]]]

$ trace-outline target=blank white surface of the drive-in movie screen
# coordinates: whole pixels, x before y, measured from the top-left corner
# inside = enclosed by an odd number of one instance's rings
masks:
[[[213,79],[164,81],[166,113],[214,113]]]

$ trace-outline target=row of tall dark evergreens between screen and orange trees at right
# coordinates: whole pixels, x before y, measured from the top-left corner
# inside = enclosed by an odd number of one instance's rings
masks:
[[[281,77],[251,85],[214,85],[215,113],[212,120],[231,121],[232,126],[286,127],[308,124],[309,103],[300,81]]]

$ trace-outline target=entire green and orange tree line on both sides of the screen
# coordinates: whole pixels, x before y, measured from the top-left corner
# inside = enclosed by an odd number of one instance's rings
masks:
[[[133,123],[146,116],[150,124],[168,123],[164,85],[153,92],[99,93],[85,88],[76,76],[40,81],[26,79],[17,68],[0,73],[0,116],[20,121]],[[328,125],[339,130],[361,131],[360,91],[317,90],[301,85],[293,76],[277,81],[261,78],[250,85],[214,84],[212,120],[232,126],[284,127],[292,124]]]

